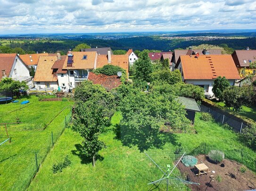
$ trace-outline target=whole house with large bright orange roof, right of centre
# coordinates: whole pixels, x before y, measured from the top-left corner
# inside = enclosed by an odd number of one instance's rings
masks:
[[[214,96],[213,83],[218,76],[225,76],[231,85],[240,79],[231,55],[180,55],[174,69],[181,71],[183,82],[204,88],[208,97]]]

